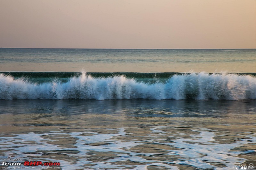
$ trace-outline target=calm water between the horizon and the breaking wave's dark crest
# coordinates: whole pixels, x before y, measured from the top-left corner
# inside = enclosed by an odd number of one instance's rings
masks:
[[[0,48],[0,71],[255,72],[255,49]]]

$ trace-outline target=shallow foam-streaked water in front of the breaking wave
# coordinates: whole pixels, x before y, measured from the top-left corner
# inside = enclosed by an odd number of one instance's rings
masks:
[[[255,161],[255,100],[1,100],[0,158],[61,169],[232,169]]]

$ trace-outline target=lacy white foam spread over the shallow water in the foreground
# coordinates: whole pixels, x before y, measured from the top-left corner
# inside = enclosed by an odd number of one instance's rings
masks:
[[[220,144],[216,143],[213,139],[213,137],[218,137],[214,130],[191,127],[193,130],[188,130],[187,133],[184,133],[186,137],[181,137],[178,133],[170,136],[173,128],[182,130],[179,127],[158,126],[149,128],[148,134],[143,136],[136,133],[126,133],[131,128],[108,129],[112,130],[113,133],[105,134],[98,132],[67,133],[55,131],[45,134],[16,134],[12,137],[0,137],[0,141],[2,144],[2,156],[5,158],[15,158],[18,156],[22,160],[36,158],[37,161],[60,162],[63,169],[86,169],[90,166],[92,169],[132,168],[139,170],[147,169],[150,166],[179,169],[179,165],[188,165],[199,169],[221,169],[223,167],[232,169],[235,164],[246,160],[237,157],[239,154],[243,154],[243,151],[232,151],[232,149],[245,144],[253,144],[255,139],[253,134],[249,134],[243,139],[237,139],[237,141],[232,143]],[[189,135],[190,132],[196,132],[197,134]],[[161,135],[167,135],[173,139],[161,139]],[[61,140],[64,136],[76,139],[72,143],[73,146],[70,144],[53,144],[56,139],[60,138],[59,140]],[[145,137],[148,137],[148,139],[145,140]],[[152,147],[152,152],[142,152],[147,144],[159,144],[173,149],[162,148],[158,150],[159,152],[156,152],[153,151],[156,148]],[[140,148],[140,152],[132,149],[133,147]],[[161,150],[165,151],[165,153],[161,152]],[[76,153],[72,153],[74,151]],[[254,150],[244,152],[255,153]],[[61,153],[64,156],[59,156],[58,159],[54,159],[54,156],[41,157],[45,154],[53,153]],[[103,158],[102,160],[97,161],[97,156],[92,159],[93,155],[100,153],[103,153],[103,156],[99,156]],[[109,155],[104,156],[104,153]],[[157,158],[159,155],[166,157],[166,159],[150,159]],[[142,165],[136,165],[138,162]],[[223,166],[214,166],[212,164],[214,162],[219,162]]]

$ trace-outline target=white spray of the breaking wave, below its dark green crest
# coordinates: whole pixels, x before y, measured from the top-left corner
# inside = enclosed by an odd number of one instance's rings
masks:
[[[204,72],[174,75],[164,82],[146,83],[124,75],[94,78],[85,72],[67,82],[31,83],[0,74],[0,99],[256,99],[256,81],[251,75]]]

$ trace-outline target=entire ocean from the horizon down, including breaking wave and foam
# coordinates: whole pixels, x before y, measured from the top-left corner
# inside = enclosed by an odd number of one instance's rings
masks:
[[[0,48],[0,167],[255,168],[255,67],[255,49]]]

